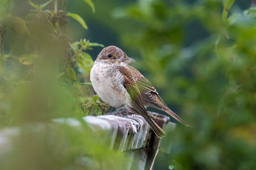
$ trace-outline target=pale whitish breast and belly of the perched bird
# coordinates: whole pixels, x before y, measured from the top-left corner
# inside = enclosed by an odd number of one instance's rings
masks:
[[[122,104],[131,105],[131,97],[124,88],[124,78],[118,67],[95,63],[91,70],[90,80],[93,89],[102,101],[115,108]]]

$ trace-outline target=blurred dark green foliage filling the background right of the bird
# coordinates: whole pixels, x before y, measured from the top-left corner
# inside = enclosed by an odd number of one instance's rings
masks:
[[[120,31],[141,54],[136,66],[193,125],[168,134],[156,169],[256,168],[255,7],[233,3],[141,0],[113,11],[139,25]]]

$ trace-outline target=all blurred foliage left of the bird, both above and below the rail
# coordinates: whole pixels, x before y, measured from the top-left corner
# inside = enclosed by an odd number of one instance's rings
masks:
[[[88,78],[93,60],[87,51],[103,45],[70,42],[66,3],[1,1],[0,128],[13,127],[6,131],[15,137],[1,150],[0,169],[121,169],[128,160],[109,150],[106,132],[95,134],[82,121],[108,110]],[[67,117],[75,127],[54,119]]]

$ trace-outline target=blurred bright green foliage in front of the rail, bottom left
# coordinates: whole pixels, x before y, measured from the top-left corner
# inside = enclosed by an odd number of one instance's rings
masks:
[[[63,123],[22,128],[21,135],[13,140],[12,150],[4,157],[0,155],[0,168],[122,169],[121,162],[129,158],[109,150],[108,133],[95,134],[82,121],[76,121],[82,124],[80,129]],[[13,159],[17,160],[15,164]]]

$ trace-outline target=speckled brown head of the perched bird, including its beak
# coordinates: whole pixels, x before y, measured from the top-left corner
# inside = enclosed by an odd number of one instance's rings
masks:
[[[110,63],[120,63],[124,62],[125,64],[129,64],[131,62],[134,62],[135,60],[128,57],[123,50],[118,48],[117,46],[106,46],[102,49],[102,51],[99,53],[97,59],[97,62],[110,62]]]

